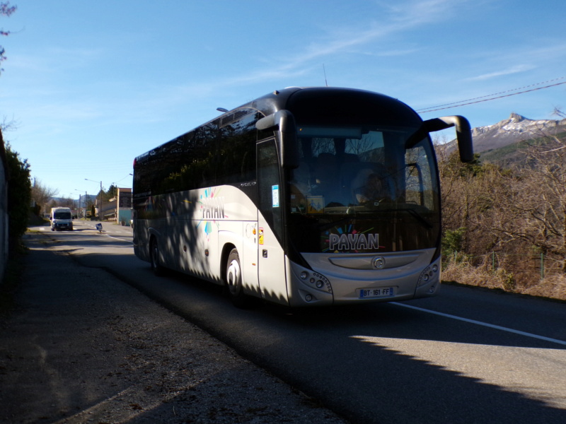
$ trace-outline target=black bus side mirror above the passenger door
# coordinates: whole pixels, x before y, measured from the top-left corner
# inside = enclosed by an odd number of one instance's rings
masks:
[[[274,129],[277,131],[279,147],[279,162],[282,167],[299,167],[299,146],[296,137],[296,124],[293,114],[288,110],[279,110],[258,119],[255,128],[261,130]],[[277,128],[277,129],[276,129]]]

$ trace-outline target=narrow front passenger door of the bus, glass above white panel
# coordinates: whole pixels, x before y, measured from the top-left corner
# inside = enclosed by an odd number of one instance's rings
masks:
[[[283,249],[283,199],[275,139],[258,143],[258,279],[262,298],[288,303]]]

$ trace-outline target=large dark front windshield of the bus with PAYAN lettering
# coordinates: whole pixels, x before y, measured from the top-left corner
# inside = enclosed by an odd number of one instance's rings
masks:
[[[439,187],[428,137],[415,128],[299,126],[289,172],[289,234],[299,252],[437,246]]]

